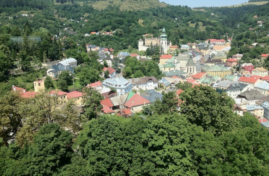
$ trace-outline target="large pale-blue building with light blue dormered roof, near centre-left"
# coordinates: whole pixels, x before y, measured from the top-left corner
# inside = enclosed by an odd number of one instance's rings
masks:
[[[125,78],[107,78],[102,85],[106,88],[112,88],[117,90],[118,95],[123,95],[132,91],[132,83]]]

